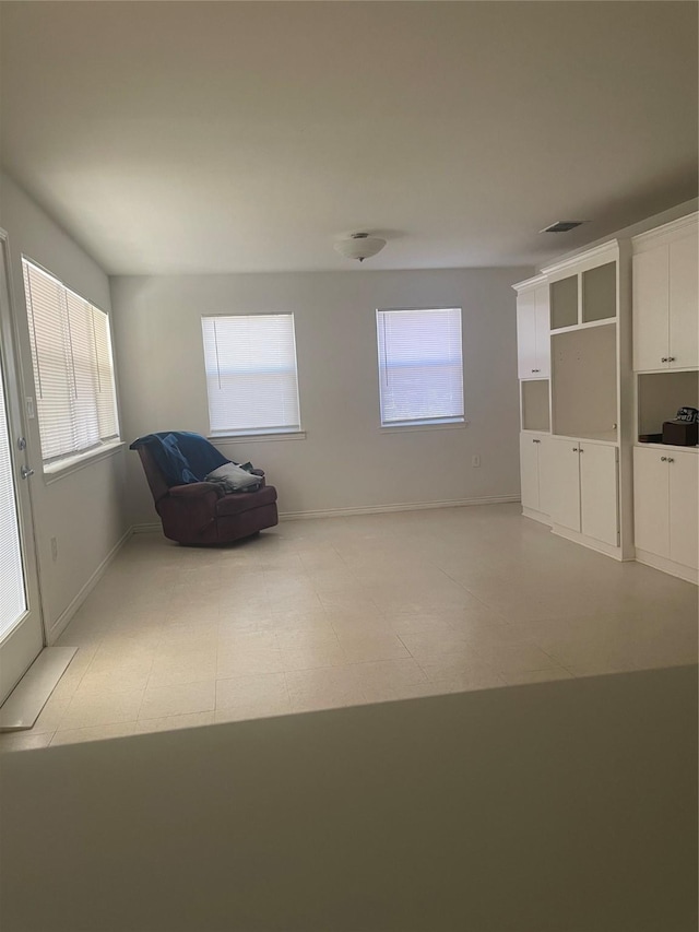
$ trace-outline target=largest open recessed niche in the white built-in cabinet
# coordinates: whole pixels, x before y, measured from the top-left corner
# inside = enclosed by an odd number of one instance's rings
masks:
[[[552,333],[553,432],[617,440],[616,323]]]

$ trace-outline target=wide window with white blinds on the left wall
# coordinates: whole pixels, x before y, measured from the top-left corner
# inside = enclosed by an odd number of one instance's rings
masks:
[[[28,262],[24,290],[44,463],[119,437],[109,318]]]

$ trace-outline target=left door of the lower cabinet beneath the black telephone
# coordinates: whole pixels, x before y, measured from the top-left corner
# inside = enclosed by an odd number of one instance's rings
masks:
[[[670,557],[670,469],[660,450],[633,450],[633,543]]]

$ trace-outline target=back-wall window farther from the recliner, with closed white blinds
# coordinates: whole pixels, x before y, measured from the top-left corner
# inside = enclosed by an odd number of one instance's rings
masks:
[[[463,422],[461,308],[376,317],[381,426]]]

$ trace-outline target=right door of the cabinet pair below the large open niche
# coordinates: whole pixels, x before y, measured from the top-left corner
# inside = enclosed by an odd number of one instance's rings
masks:
[[[616,447],[580,444],[580,515],[582,533],[618,545],[618,470]]]

